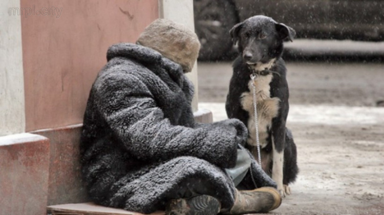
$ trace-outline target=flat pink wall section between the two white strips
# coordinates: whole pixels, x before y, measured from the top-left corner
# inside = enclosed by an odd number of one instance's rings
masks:
[[[26,131],[82,123],[89,91],[117,42],[135,42],[159,17],[158,0],[21,0]],[[44,9],[44,12],[47,12]]]

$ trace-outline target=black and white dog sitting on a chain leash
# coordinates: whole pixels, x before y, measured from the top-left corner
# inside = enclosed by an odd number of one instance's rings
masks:
[[[296,145],[286,128],[288,116],[288,84],[281,58],[283,41],[291,40],[295,31],[266,16],[253,16],[230,30],[238,42],[240,56],[233,62],[233,75],[225,104],[228,118],[238,118],[248,127],[247,148],[258,159],[253,85],[257,100],[257,116],[262,167],[278,184],[282,196],[290,194],[289,183],[296,179]]]

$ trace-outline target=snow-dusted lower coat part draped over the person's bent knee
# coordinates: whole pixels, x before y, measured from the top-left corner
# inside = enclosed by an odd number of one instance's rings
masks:
[[[200,195],[212,196],[222,207],[230,208],[236,193],[224,170],[195,157],[175,158],[125,178],[114,183],[110,205],[142,213],[163,210],[172,199]]]

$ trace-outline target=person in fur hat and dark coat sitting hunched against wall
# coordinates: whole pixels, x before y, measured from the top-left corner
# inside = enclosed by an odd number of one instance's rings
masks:
[[[242,122],[194,121],[194,88],[184,73],[199,49],[193,31],[165,19],[148,26],[137,44],[109,48],[80,143],[83,179],[96,204],[207,215],[280,206],[276,184],[243,147]]]

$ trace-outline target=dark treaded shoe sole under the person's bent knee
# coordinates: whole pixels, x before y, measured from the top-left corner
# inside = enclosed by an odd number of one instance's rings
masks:
[[[216,215],[220,211],[220,202],[214,197],[202,195],[190,199],[170,200],[167,215]]]

